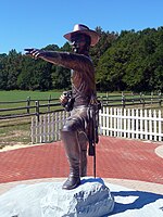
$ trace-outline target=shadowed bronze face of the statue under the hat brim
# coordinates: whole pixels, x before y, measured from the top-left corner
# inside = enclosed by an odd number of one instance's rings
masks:
[[[75,53],[85,53],[87,42],[86,36],[83,34],[76,34],[72,37],[72,49]]]

